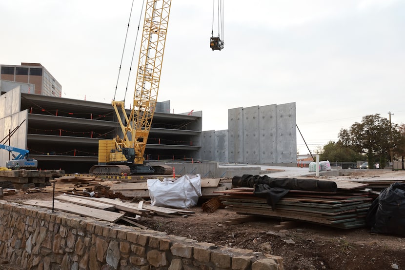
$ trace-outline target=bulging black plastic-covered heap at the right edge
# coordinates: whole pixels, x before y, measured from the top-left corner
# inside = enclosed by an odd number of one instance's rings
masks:
[[[371,232],[405,236],[405,184],[396,182],[372,203],[366,217]]]

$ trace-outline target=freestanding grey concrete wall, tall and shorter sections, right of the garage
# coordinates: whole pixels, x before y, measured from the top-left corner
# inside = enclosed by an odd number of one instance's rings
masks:
[[[228,130],[203,132],[203,160],[297,163],[295,102],[228,110]]]

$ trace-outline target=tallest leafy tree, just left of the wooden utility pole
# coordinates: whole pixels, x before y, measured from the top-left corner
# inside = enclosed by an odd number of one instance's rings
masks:
[[[353,151],[366,154],[368,164],[374,164],[378,160],[381,168],[384,168],[392,145],[389,140],[390,130],[388,119],[379,114],[367,115],[362,118],[361,123],[355,122],[349,130],[342,129],[339,140]]]

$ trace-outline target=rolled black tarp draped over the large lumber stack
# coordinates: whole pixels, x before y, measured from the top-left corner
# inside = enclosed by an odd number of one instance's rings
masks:
[[[277,202],[289,190],[336,192],[338,187],[333,181],[297,178],[271,178],[267,175],[243,174],[232,178],[232,187],[254,188],[253,194],[264,197],[274,210]]]

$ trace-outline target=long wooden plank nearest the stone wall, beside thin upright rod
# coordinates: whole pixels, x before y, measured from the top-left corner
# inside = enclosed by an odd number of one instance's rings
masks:
[[[52,209],[52,201],[28,200],[28,201],[25,201],[24,204]],[[122,213],[110,212],[110,211],[105,211],[105,210],[101,210],[101,209],[95,209],[95,208],[85,207],[85,206],[81,206],[81,205],[76,205],[73,203],[60,202],[57,200],[55,200],[54,209],[61,210],[64,212],[78,214],[81,216],[94,217],[94,218],[98,218],[98,219],[105,220],[108,222],[116,222],[124,215]]]

